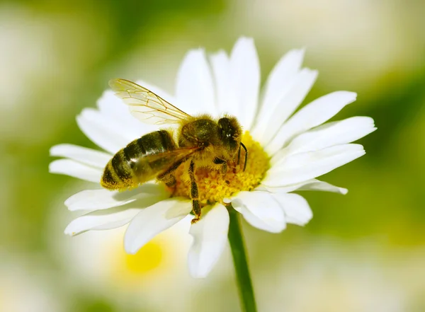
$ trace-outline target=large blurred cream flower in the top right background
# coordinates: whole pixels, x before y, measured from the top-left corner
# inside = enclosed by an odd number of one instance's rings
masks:
[[[421,62],[422,18],[414,13],[424,11],[419,2],[416,8],[395,0],[237,0],[235,5],[224,27],[254,35],[271,53],[308,47],[310,60],[326,69],[321,82],[327,88],[377,92],[389,74],[408,74]]]

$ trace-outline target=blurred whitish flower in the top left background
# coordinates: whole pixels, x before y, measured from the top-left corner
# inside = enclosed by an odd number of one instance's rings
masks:
[[[72,108],[67,104],[73,102],[75,86],[84,79],[86,68],[101,59],[107,33],[108,23],[96,15],[40,10],[19,1],[0,4],[3,139],[38,144],[51,137],[63,123],[64,112]],[[55,105],[40,110],[38,103]],[[16,125],[37,131],[28,132]]]

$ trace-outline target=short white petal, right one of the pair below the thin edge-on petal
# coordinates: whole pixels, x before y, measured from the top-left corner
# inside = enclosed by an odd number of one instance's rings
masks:
[[[285,213],[286,222],[303,226],[312,219],[312,209],[304,197],[297,194],[273,194]]]

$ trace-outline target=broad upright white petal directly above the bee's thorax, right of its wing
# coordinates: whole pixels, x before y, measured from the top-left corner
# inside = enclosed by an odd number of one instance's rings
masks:
[[[189,51],[177,74],[176,98],[179,108],[189,115],[205,112],[217,115],[214,97],[214,85],[205,51]]]

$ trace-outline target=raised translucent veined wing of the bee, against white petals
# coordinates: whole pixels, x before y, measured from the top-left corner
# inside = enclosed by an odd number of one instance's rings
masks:
[[[130,106],[130,112],[138,120],[154,125],[175,124],[186,120],[186,114],[176,106],[157,96],[147,88],[125,79],[112,79],[109,86],[115,95]]]

